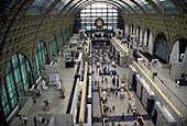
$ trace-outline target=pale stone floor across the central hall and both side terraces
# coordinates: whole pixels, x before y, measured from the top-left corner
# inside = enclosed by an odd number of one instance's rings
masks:
[[[95,55],[92,55],[95,56]],[[107,60],[108,57],[107,57]],[[65,64],[64,64],[64,59],[59,58],[58,62],[61,65],[61,70],[62,70],[62,75],[63,75],[63,80],[61,80],[63,87],[66,89],[65,90],[65,99],[59,99],[59,94],[58,94],[58,90],[56,90],[55,87],[48,87],[47,90],[44,90],[42,92],[42,95],[40,98],[36,98],[36,103],[33,103],[33,105],[31,106],[30,111],[26,113],[26,116],[29,118],[28,125],[29,126],[33,126],[33,117],[35,115],[38,114],[66,114],[66,110],[67,110],[67,104],[69,101],[69,95],[70,95],[70,91],[72,91],[72,87],[73,87],[73,81],[74,81],[74,73],[76,71],[77,67],[74,68],[65,68]],[[95,57],[92,57],[92,69],[96,69],[96,62],[95,62]],[[120,67],[118,66],[117,68],[111,67],[109,69],[113,69],[117,70],[119,78],[122,77],[122,75],[127,76],[129,75],[129,68],[124,67]],[[178,98],[180,98],[182,101],[184,101],[184,103],[187,103],[187,99],[186,94],[187,94],[187,87],[179,87],[176,88],[175,82],[169,80],[167,78],[167,76],[165,76],[168,70],[164,70],[164,69],[158,69],[156,66],[152,67],[151,69],[157,70],[158,72],[158,77],[162,77],[162,79],[167,82],[167,85],[172,89],[172,91],[174,91],[174,93],[176,93],[176,95],[178,95]],[[109,79],[109,83],[111,83],[111,79],[112,77],[110,76],[106,76]],[[101,79],[101,77],[98,75],[98,72],[95,72],[92,75],[92,81]],[[167,80],[168,79],[168,80]],[[106,83],[101,83],[103,89],[107,89],[107,84]],[[125,84],[128,84],[128,81],[125,81]],[[120,83],[121,85],[121,83]],[[111,84],[111,87],[113,87]],[[113,87],[113,89],[119,90],[119,88]],[[152,121],[148,118],[148,115],[145,111],[145,108],[143,107],[143,105],[141,104],[140,100],[136,98],[136,94],[134,93],[134,91],[131,90],[130,88],[130,92],[133,94],[133,98],[135,99],[135,103],[138,106],[138,110],[140,112],[140,115],[143,116],[145,118],[145,123],[147,126],[153,126]],[[51,105],[51,110],[50,111],[44,111],[44,100],[48,100],[50,105]],[[111,117],[114,117],[116,121],[116,126],[118,125],[119,122],[121,122],[121,124],[124,125],[133,125],[133,122],[135,119],[135,117],[132,115],[132,112],[130,112],[129,114],[127,113],[128,110],[128,101],[129,101],[129,95],[125,92],[125,99],[123,99],[121,101],[121,99],[118,96],[116,96],[114,94],[111,94],[111,96],[108,96],[108,102],[106,103],[106,105],[108,106],[112,106],[116,105],[116,111],[114,112],[108,112],[108,117],[109,117],[109,125],[111,125]],[[121,119],[121,114],[122,112],[124,112],[124,121]],[[97,85],[92,85],[92,116],[97,117],[97,115],[101,116],[101,110],[100,110],[100,99],[99,99],[99,90]],[[18,117],[15,117],[13,119],[13,122],[11,123],[11,126],[23,126],[23,122],[20,121]],[[101,126],[102,125],[102,119],[100,117],[99,122],[94,122],[92,124],[94,126]]]

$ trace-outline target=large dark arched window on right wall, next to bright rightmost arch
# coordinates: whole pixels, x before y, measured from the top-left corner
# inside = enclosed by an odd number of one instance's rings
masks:
[[[168,62],[168,45],[164,33],[160,33],[156,36],[154,45],[154,56],[160,59],[161,62]]]

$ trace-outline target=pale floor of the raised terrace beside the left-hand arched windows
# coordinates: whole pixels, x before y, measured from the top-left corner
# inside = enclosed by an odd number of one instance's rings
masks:
[[[63,79],[59,81],[62,82],[62,88],[65,88],[65,99],[59,99],[59,93],[56,87],[48,87],[47,90],[43,90],[41,96],[36,98],[36,103],[33,103],[29,112],[25,114],[29,119],[28,126],[34,125],[34,116],[43,116],[44,114],[66,114],[77,65],[74,68],[65,68],[64,57],[59,57],[58,62],[55,62],[54,65],[59,65],[59,70],[62,71]],[[44,111],[45,100],[50,102],[50,111]],[[48,117],[43,117],[50,119]],[[63,124],[66,124],[66,118],[62,121],[64,121]],[[11,126],[24,126],[24,124],[19,117],[15,117],[11,123]]]

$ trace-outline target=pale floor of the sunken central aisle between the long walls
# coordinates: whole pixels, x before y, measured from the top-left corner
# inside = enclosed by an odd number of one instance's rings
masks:
[[[110,59],[107,55],[107,53],[105,53],[106,55],[106,59],[109,62]],[[92,56],[96,56],[96,54],[94,53]],[[102,58],[100,58],[100,60],[102,61]],[[92,75],[92,81],[95,82],[95,80],[101,80],[102,76],[99,76],[98,69],[96,69],[96,57],[92,58],[92,69],[95,70],[95,73]],[[117,65],[117,68],[113,68],[111,66],[111,64],[107,65],[105,64],[103,67],[101,66],[99,69],[102,68],[109,68],[109,70],[117,70],[117,73],[119,75],[119,79],[122,78],[122,76],[128,77],[129,75],[129,68],[127,67],[120,67]],[[119,87],[117,87],[117,84],[113,87],[112,84],[112,78],[114,76],[103,76],[103,78],[107,78],[109,80],[109,85],[113,88],[113,90],[118,91],[118,96],[116,94],[113,94],[111,92],[110,96],[108,98],[108,102],[106,103],[107,106],[111,107],[111,112],[108,111],[108,118],[109,118],[109,126],[112,126],[111,124],[111,119],[112,117],[114,118],[114,124],[116,126],[119,124],[119,122],[121,123],[122,126],[124,125],[129,125],[132,126],[134,124],[134,121],[136,119],[136,116],[133,115],[132,111],[129,111],[128,113],[128,108],[129,108],[129,95],[127,92],[124,92],[125,98],[123,100],[120,99],[120,93],[121,93],[121,82],[119,83]],[[117,79],[117,76],[116,76]],[[100,82],[101,87],[103,87],[103,90],[107,91],[107,87],[108,84],[106,83],[106,81]],[[128,80],[125,80],[125,85],[128,87]],[[151,121],[151,116],[146,113],[145,108],[143,107],[143,105],[141,104],[140,100],[138,99],[136,94],[134,93],[134,91],[132,91],[131,87],[130,87],[130,92],[132,93],[134,100],[135,100],[135,105],[140,112],[139,116],[143,116],[143,118],[145,119],[145,123],[147,126],[154,126],[154,124]],[[98,116],[98,114],[100,115],[100,119],[99,122],[95,121],[94,122],[94,126],[101,126],[102,125],[102,117],[101,117],[101,108],[98,108],[98,106],[100,106],[100,98],[99,98],[99,90],[98,90],[98,85],[94,84],[92,87],[92,95],[94,95],[94,117],[96,118]],[[112,111],[112,106],[116,106],[114,111]],[[101,106],[100,106],[101,107]],[[121,118],[122,113],[124,113],[124,119]]]

